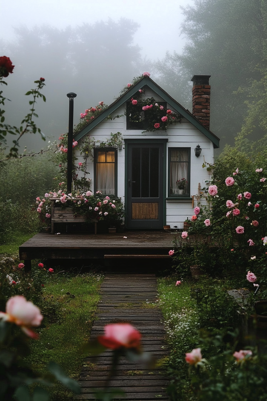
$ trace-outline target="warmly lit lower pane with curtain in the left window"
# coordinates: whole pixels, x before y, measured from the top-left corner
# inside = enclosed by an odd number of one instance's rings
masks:
[[[115,194],[115,163],[96,163],[96,190]]]

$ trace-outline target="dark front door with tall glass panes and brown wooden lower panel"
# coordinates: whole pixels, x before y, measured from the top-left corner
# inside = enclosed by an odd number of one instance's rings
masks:
[[[163,228],[163,144],[128,144],[129,228]]]

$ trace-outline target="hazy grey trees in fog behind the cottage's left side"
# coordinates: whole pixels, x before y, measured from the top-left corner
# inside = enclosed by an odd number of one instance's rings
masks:
[[[84,109],[98,101],[112,102],[120,88],[140,73],[140,48],[132,45],[138,27],[137,23],[121,18],[118,22],[109,19],[63,30],[47,25],[32,30],[16,28],[16,43],[5,44],[6,53],[15,65],[6,89],[7,97],[12,100],[7,117],[16,119],[21,109],[25,113],[22,94],[40,76],[46,80],[47,105],[38,110],[37,124],[46,136],[57,138],[67,131],[69,91],[77,93],[76,123]],[[30,141],[32,146],[32,138]],[[39,138],[36,142],[42,146]]]

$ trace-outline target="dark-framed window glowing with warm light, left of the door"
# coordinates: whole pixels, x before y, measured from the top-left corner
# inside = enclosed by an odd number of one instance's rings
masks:
[[[116,195],[117,152],[114,148],[94,150],[94,193]]]

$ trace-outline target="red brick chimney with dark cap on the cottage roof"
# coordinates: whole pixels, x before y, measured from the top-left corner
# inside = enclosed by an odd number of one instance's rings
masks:
[[[211,85],[209,78],[211,75],[194,75],[193,81],[193,111],[192,114],[209,130],[210,119],[210,99]]]

